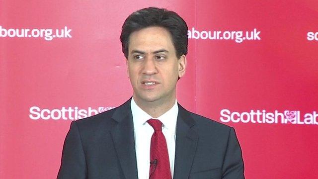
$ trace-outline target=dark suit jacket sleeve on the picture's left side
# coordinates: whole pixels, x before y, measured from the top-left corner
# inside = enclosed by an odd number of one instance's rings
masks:
[[[65,138],[61,167],[57,179],[85,179],[86,162],[76,121]]]

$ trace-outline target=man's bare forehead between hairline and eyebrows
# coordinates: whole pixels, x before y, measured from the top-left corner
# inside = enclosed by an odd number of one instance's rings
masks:
[[[128,50],[153,52],[159,49],[173,51],[171,34],[163,27],[147,27],[130,34]]]

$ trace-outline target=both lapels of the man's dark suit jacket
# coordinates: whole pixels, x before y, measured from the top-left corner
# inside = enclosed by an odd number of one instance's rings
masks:
[[[112,118],[117,122],[110,131],[119,163],[126,179],[137,179],[134,125],[130,108],[131,98],[115,109]],[[195,156],[198,133],[190,112],[178,104],[174,179],[187,179]]]

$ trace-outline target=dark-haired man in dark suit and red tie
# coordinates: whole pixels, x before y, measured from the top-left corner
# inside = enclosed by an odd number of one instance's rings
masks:
[[[72,122],[59,179],[244,179],[234,129],[176,102],[187,29],[178,14],[154,7],[126,19],[120,39],[133,96]]]

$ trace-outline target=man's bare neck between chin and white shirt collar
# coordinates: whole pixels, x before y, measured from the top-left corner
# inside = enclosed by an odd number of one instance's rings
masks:
[[[161,101],[141,101],[138,99],[138,97],[135,97],[133,95],[134,101],[136,104],[143,109],[145,112],[147,112],[150,116],[153,118],[158,118],[162,114],[164,114],[166,111],[171,109],[171,107],[175,103],[175,95],[168,98],[164,99]]]

